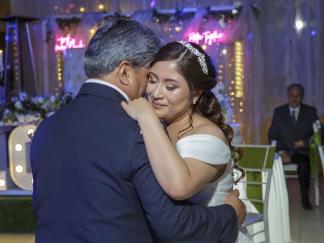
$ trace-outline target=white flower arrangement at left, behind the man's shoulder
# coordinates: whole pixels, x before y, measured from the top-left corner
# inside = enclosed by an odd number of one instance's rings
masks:
[[[72,94],[28,96],[20,93],[9,102],[0,103],[0,126],[37,125],[72,100]]]

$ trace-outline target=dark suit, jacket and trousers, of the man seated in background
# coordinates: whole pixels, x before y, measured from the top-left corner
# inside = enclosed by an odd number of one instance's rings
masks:
[[[286,151],[292,162],[298,165],[298,177],[301,186],[302,201],[308,202],[309,189],[309,142],[313,132],[313,123],[318,119],[316,108],[301,104],[296,126],[293,125],[289,105],[275,108],[269,129],[269,142],[277,141],[276,151]],[[303,148],[295,148],[294,142],[303,140]]]

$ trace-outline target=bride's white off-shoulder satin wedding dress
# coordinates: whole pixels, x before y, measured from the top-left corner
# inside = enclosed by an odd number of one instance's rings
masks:
[[[234,184],[234,161],[229,147],[216,136],[197,134],[181,138],[176,144],[176,149],[183,158],[195,158],[210,165],[227,164],[226,170],[220,178],[209,183],[206,187],[189,198],[192,203],[205,206],[223,204],[226,197],[232,192]],[[236,242],[253,242],[246,228],[238,230]]]

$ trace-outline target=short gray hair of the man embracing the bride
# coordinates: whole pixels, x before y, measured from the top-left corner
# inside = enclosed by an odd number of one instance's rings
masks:
[[[135,20],[106,21],[91,38],[86,50],[85,72],[90,78],[103,77],[122,61],[129,61],[137,72],[140,67],[149,67],[163,45],[161,37]]]

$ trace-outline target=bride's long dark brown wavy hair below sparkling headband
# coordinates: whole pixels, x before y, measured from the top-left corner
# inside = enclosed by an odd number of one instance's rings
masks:
[[[242,150],[231,145],[233,139],[233,129],[226,123],[225,118],[221,113],[221,106],[211,91],[217,85],[217,71],[216,67],[212,63],[212,59],[206,54],[206,52],[198,45],[190,43],[200,53],[205,56],[208,74],[203,72],[197,56],[191,53],[185,46],[178,42],[171,42],[165,45],[157,53],[156,57],[151,63],[151,66],[159,61],[175,61],[178,72],[186,79],[189,90],[190,100],[193,100],[193,94],[195,91],[203,91],[198,100],[188,107],[189,114],[189,126],[178,133],[180,139],[185,133],[193,129],[192,115],[194,113],[208,118],[212,123],[216,124],[224,133],[231,152],[236,152],[238,156],[234,158],[234,168],[241,172],[241,176],[235,180],[235,184],[245,176],[245,171],[238,167],[236,163],[242,157]]]

